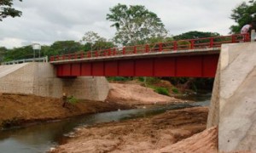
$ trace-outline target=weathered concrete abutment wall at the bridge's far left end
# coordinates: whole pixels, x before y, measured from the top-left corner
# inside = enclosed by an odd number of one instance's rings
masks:
[[[6,71],[6,70],[12,71]],[[26,63],[0,67],[0,92],[12,94],[35,94],[61,98],[62,93],[78,99],[103,101],[108,96],[108,81],[105,77],[55,77],[49,63]]]

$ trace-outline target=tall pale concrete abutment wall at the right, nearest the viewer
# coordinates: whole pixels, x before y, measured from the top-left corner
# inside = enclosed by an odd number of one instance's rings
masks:
[[[256,150],[256,42],[221,48],[207,127],[217,124],[219,150]]]

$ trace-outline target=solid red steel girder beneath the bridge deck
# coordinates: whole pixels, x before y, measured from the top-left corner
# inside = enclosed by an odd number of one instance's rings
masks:
[[[215,77],[218,54],[55,65],[57,77]]]

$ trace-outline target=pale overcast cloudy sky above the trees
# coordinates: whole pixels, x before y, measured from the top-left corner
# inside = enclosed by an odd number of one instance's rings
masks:
[[[157,14],[170,35],[187,31],[211,31],[228,35],[231,10],[242,0],[23,0],[15,1],[22,16],[0,22],[0,46],[7,48],[33,42],[79,41],[86,31],[107,39],[115,28],[106,20],[109,8],[118,3],[144,5]]]

